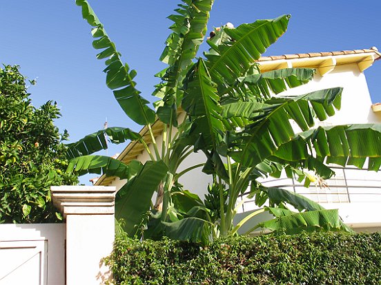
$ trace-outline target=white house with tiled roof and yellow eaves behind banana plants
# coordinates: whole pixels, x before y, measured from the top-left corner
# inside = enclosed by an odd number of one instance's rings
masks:
[[[308,54],[286,54],[282,56],[264,56],[258,60],[260,70],[267,72],[288,67],[312,67],[317,70],[313,81],[293,88],[292,94],[305,94],[318,89],[343,87],[342,108],[335,116],[320,123],[321,125],[344,125],[353,123],[381,123],[381,105],[371,103],[364,70],[381,59],[377,48],[364,50],[344,50],[340,52],[319,52]],[[289,92],[286,91],[285,93]],[[181,115],[180,115],[181,116]],[[183,115],[184,116],[184,115]],[[156,140],[161,140],[162,123],[153,125]],[[140,134],[147,136],[148,130],[141,129]],[[148,139],[149,140],[149,139]],[[148,160],[148,154],[139,142],[130,142],[117,157],[125,163],[133,159],[141,162]],[[182,169],[195,162],[204,162],[204,154],[193,154],[183,162]],[[192,162],[192,163],[190,163]],[[179,169],[181,171],[182,169]],[[381,230],[381,175],[374,171],[355,169],[354,167],[335,167],[336,175],[324,182],[324,185],[311,185],[309,188],[286,178],[268,178],[266,186],[277,186],[319,202],[326,209],[339,209],[340,216],[356,231]],[[197,177],[197,179],[195,179]],[[186,189],[203,197],[210,178],[199,169],[182,176],[179,181]],[[101,176],[96,185],[115,186],[117,189],[125,183],[119,178]],[[254,202],[246,202],[242,212],[255,207]]]

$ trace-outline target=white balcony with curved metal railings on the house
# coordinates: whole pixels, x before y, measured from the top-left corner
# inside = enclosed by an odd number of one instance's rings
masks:
[[[335,176],[323,184],[309,188],[295,179],[282,176],[279,179],[262,180],[266,187],[279,187],[318,202],[325,209],[339,209],[342,220],[355,231],[381,230],[381,173],[355,167],[331,167]],[[242,204],[239,212],[257,209],[253,200]]]

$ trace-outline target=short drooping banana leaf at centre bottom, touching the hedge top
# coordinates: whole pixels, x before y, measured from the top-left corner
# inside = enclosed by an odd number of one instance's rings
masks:
[[[207,244],[213,224],[200,218],[185,218],[177,222],[163,222],[164,234],[173,240],[186,240]]]

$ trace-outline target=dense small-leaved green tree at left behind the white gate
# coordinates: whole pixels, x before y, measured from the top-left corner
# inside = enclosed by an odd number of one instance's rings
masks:
[[[77,183],[65,173],[66,147],[53,119],[51,101],[38,109],[18,66],[0,68],[0,223],[57,222],[50,186]]]

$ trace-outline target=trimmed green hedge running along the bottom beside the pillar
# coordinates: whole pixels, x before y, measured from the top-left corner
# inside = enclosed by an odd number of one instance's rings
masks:
[[[381,233],[228,237],[209,246],[119,236],[117,284],[381,284]]]

